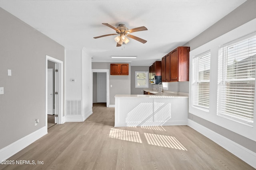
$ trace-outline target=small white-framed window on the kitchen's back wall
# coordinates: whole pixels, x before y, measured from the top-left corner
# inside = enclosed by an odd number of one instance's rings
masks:
[[[148,88],[148,71],[135,72],[135,88]]]

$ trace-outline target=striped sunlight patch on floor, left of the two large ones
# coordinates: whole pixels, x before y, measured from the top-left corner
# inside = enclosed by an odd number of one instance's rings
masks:
[[[140,134],[136,131],[126,131],[122,129],[111,128],[109,131],[108,137],[113,139],[120,139],[125,141],[142,143]]]

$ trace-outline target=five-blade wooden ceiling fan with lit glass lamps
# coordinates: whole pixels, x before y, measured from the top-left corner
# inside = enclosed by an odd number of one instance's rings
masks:
[[[136,37],[134,35],[130,35],[129,33],[132,33],[132,32],[137,32],[137,31],[145,31],[145,30],[148,30],[146,27],[142,26],[142,27],[137,27],[137,28],[132,28],[132,29],[128,29],[124,24],[120,23],[118,25],[118,27],[114,27],[108,23],[102,23],[103,25],[106,25],[114,30],[116,30],[116,33],[113,33],[113,34],[106,34],[106,35],[101,35],[101,36],[98,36],[98,37],[93,37],[93,38],[100,38],[100,37],[106,37],[106,36],[109,36],[109,35],[118,35],[117,37],[115,37],[115,41],[117,42],[116,44],[116,47],[121,47],[121,45],[123,43],[128,43],[130,40],[127,38],[132,38],[132,39],[135,39],[137,41],[140,41],[141,43],[146,43],[147,41],[144,40],[144,39],[141,39],[139,37]]]

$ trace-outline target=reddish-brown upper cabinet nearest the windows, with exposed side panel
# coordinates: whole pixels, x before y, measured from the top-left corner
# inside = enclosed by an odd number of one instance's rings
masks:
[[[177,47],[170,52],[170,81],[185,82],[189,79],[190,47]]]

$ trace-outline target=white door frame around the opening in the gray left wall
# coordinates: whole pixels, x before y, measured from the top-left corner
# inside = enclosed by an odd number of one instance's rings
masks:
[[[50,57],[46,55],[46,113],[45,113],[45,125],[47,127],[47,83],[48,83],[48,61],[52,61],[56,63],[57,69],[58,69],[58,79],[57,79],[57,87],[55,89],[56,92],[58,92],[57,98],[56,98],[56,103],[55,103],[55,109],[56,109],[56,114],[58,115],[57,117],[57,124],[62,124],[63,120],[63,61],[60,61],[58,59],[55,59],[53,57]],[[55,92],[54,92],[55,93]]]

